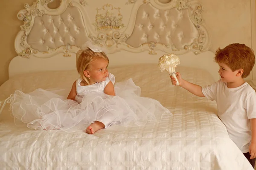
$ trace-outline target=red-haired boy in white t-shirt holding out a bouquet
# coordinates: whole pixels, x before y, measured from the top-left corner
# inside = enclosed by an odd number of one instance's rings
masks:
[[[215,100],[218,117],[227,127],[230,138],[254,167],[256,158],[256,93],[244,78],[250,74],[255,56],[244,44],[230,44],[215,52],[221,79],[201,87],[181,78],[180,87],[200,97]],[[171,76],[172,84],[176,80]]]

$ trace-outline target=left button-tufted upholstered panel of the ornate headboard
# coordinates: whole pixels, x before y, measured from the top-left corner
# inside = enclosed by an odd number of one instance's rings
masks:
[[[37,23],[40,23],[41,26],[38,26]],[[44,14],[42,17],[36,17],[34,26],[27,37],[27,42],[33,49],[43,52],[48,51],[49,48],[59,48],[66,43],[80,47],[85,41],[78,41],[76,44],[76,38],[86,36],[79,9],[67,8],[59,16]],[[44,40],[40,41],[41,39]]]

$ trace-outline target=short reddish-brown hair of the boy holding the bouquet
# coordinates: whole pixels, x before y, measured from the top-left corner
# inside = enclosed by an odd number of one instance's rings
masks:
[[[230,67],[232,71],[240,68],[244,70],[242,78],[246,78],[253,69],[255,55],[251,48],[244,44],[230,44],[225,48],[216,50],[215,62],[222,62]]]

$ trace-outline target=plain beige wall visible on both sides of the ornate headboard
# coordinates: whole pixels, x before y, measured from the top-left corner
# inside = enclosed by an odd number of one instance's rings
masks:
[[[2,0],[1,2],[0,85],[8,79],[9,62],[17,55],[14,49],[14,40],[19,26],[22,25],[22,22],[17,19],[17,13],[24,8],[24,3],[32,5],[34,1]],[[204,6],[203,17],[212,37],[211,51],[235,42],[251,46],[250,0],[200,1]],[[52,8],[56,6],[58,6],[58,1],[50,4]]]

